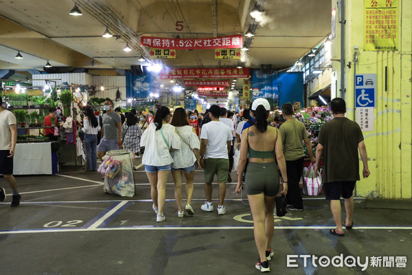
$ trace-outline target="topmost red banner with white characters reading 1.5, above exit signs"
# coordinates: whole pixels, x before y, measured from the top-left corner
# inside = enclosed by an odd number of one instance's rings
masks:
[[[141,36],[140,43],[156,49],[174,50],[236,49],[241,48],[243,45],[242,34],[208,39],[165,39],[162,37]]]

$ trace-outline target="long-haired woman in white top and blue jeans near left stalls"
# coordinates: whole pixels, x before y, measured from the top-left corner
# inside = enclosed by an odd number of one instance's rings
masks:
[[[90,106],[84,108],[84,121],[82,131],[84,133],[84,147],[86,148],[86,170],[97,171],[98,131],[100,131],[100,125],[98,119],[93,113],[93,109],[91,109]]]

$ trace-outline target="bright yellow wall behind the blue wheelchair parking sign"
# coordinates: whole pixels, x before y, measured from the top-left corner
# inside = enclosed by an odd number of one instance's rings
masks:
[[[412,1],[399,1],[402,25],[399,24],[398,51],[363,51],[363,1],[346,0],[345,101],[347,118],[354,119],[354,46],[358,46],[356,74],[377,74],[377,107],[374,109],[374,131],[363,132],[369,157],[368,179],[356,184],[356,195],[362,197],[412,197]],[[336,0],[332,0],[332,8]],[[336,14],[338,14],[336,8]],[[332,39],[332,59],[340,58],[340,24],[336,15],[336,37]],[[385,91],[387,67],[387,91]],[[340,64],[332,62],[336,78],[336,96],[340,96]],[[333,93],[333,90],[331,91]],[[334,95],[332,94],[332,98]],[[360,162],[362,169],[362,162]]]

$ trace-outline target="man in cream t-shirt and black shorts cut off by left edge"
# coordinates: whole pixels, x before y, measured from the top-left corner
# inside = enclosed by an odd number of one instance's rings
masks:
[[[11,111],[3,109],[0,96],[0,174],[10,184],[13,190],[12,207],[19,206],[21,195],[17,192],[16,179],[13,177],[13,156],[17,142],[16,116]],[[5,200],[5,189],[0,188],[0,202]]]

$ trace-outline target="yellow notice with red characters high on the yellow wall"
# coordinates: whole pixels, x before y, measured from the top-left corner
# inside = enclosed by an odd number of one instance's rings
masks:
[[[398,0],[363,0],[363,49],[398,50]]]

